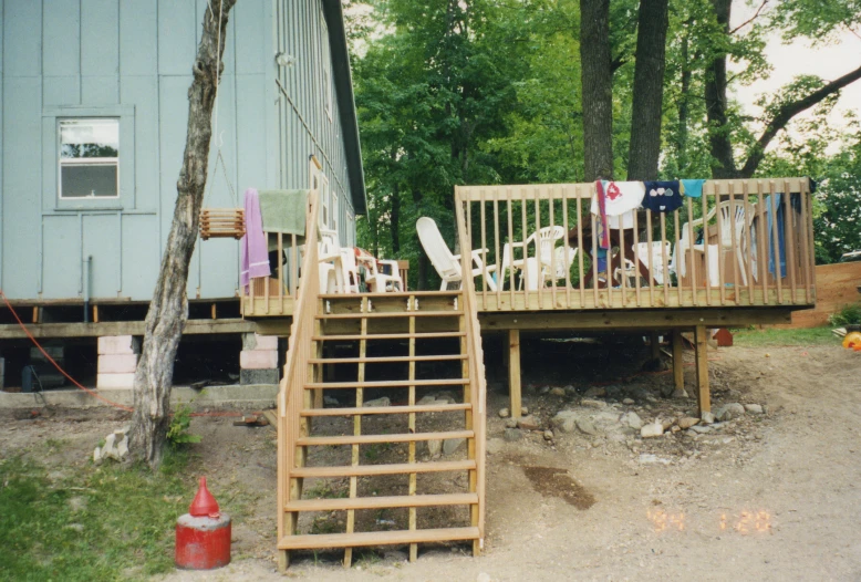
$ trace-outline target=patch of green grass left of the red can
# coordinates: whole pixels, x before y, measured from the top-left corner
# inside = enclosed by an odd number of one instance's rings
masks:
[[[23,457],[0,460],[0,579],[127,580],[174,568],[174,524],[188,510],[186,457],[163,469],[84,466],[52,480]]]

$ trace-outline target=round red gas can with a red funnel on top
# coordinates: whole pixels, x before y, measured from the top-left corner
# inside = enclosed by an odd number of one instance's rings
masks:
[[[230,518],[206,488],[206,477],[189,512],[176,521],[176,565],[187,570],[212,570],[230,563]]]

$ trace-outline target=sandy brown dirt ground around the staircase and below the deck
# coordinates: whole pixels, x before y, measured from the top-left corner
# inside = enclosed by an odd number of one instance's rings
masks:
[[[641,362],[620,363],[613,350],[592,350],[603,366],[592,366],[592,376],[578,372],[574,358],[550,366],[525,357],[523,401],[542,428],[558,410],[582,406],[584,391],[602,377],[610,382],[589,394],[606,409],[635,410],[645,422],[695,413],[693,398],[661,395],[670,375],[618,381]],[[418,561],[408,563],[398,551],[357,551],[349,571],[340,553],[307,553],[295,557],[288,578],[861,580],[859,354],[836,342],[718,349],[709,358],[713,408],[760,404],[765,414],[746,414],[706,434],[641,439],[557,430],[546,440],[539,430],[508,441],[505,419],[496,414],[507,405],[506,394],[498,370],[489,370],[485,553],[474,559],[466,545],[419,547]],[[686,371],[691,389],[693,368]],[[569,391],[553,395],[548,386]],[[623,396],[633,404],[623,404]],[[62,453],[44,459],[62,467],[69,456],[91,455],[124,420],[102,412],[9,417],[4,424],[0,454],[62,438]],[[274,430],[235,427],[231,418],[218,417],[196,418],[193,430],[204,438],[189,470],[205,470],[217,497],[242,499],[246,510],[234,523],[232,564],[159,580],[282,580],[274,569]],[[230,512],[229,502],[222,509]]]

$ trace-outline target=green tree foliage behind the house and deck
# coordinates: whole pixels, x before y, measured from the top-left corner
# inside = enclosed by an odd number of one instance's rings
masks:
[[[581,2],[350,3],[365,8],[347,27],[369,187],[360,241],[380,256],[411,260],[417,273],[411,287],[429,288],[435,273],[415,220],[435,218],[454,246],[455,185],[584,179],[593,144],[583,127]],[[810,175],[821,183],[818,257],[836,260],[840,249],[861,247],[850,211],[859,201],[853,180],[861,167],[858,126],[831,127],[828,114],[861,63],[848,62],[838,80],[800,76],[765,95],[756,115],[734,101],[733,89],[771,74],[768,34],[821,43],[859,32],[861,0],[751,0],[754,17],[740,24],[728,18],[734,4],[668,2],[658,174]],[[618,179],[642,152],[631,147],[643,98],[634,90],[640,9],[639,0],[610,0],[609,132]]]

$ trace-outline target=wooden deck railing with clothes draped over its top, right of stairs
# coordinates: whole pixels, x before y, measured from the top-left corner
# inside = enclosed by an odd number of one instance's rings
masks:
[[[630,228],[611,224],[605,266],[594,260],[602,252],[593,236],[599,232],[593,196],[594,184],[456,187],[466,226],[460,248],[485,249],[485,272],[475,283],[477,309],[816,301],[808,178],[707,180],[702,197],[684,197],[677,210],[637,210],[629,224],[616,224]],[[550,226],[559,227],[551,229],[557,237],[563,235],[542,250],[533,235]]]

